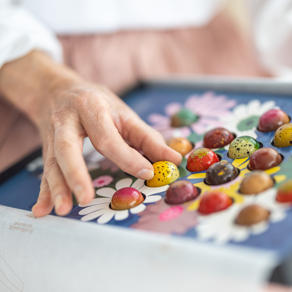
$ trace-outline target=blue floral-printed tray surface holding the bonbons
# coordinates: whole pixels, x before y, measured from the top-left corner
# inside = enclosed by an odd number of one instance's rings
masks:
[[[270,142],[274,132],[259,132],[259,117],[274,108],[283,109],[292,116],[292,100],[281,95],[147,86],[130,92],[125,96],[125,101],[142,119],[160,131],[165,139],[188,138],[194,143],[194,149],[202,147],[204,134],[216,127],[224,127],[237,136],[252,136],[262,142],[264,147],[272,147]],[[171,116],[183,107],[192,110],[199,118],[190,126],[171,127]],[[201,194],[185,204],[168,205],[164,201],[168,186],[145,186],[144,181],[124,173],[111,161],[90,149],[89,145],[84,157],[93,178],[96,198],[88,205],[77,205],[75,202],[66,217],[99,225],[117,225],[130,230],[169,234],[186,240],[208,242],[214,246],[272,251],[277,254],[279,261],[284,260],[292,251],[292,206],[278,203],[275,196],[277,186],[292,178],[291,147],[274,148],[284,156],[279,166],[266,171],[275,180],[275,187],[255,196],[244,196],[238,192],[242,179],[250,172],[247,168],[249,158],[230,159],[227,157],[227,149],[228,145],[215,151],[222,156],[222,160],[229,161],[240,169],[240,175],[236,179],[218,186],[204,184],[206,171],[193,173],[186,169],[188,153],[179,167],[179,179],[188,180],[199,187]],[[41,163],[36,160],[26,170],[1,185],[0,204],[30,210],[38,195],[40,172]],[[110,209],[109,203],[114,192],[129,186],[145,194],[144,202],[129,210]],[[30,192],[27,192],[28,187]],[[217,213],[200,214],[197,209],[201,196],[214,189],[227,193],[234,203]],[[27,196],[26,200],[21,198],[24,194]],[[237,214],[249,204],[267,208],[271,212],[270,219],[250,227],[236,225]]]

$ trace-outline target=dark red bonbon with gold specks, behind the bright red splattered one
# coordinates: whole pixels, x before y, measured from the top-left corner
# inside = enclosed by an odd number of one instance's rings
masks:
[[[234,139],[234,135],[224,128],[216,128],[204,137],[204,147],[206,148],[220,148],[228,145]]]

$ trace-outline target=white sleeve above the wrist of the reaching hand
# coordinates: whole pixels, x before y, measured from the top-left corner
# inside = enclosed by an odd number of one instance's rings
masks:
[[[22,6],[0,3],[0,68],[32,50],[44,51],[55,61],[62,61],[62,47],[52,31]]]

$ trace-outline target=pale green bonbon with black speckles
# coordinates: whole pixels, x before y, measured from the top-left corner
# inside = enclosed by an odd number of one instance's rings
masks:
[[[231,159],[241,159],[251,156],[253,152],[260,148],[260,144],[251,136],[241,136],[235,138],[229,146],[228,156]]]

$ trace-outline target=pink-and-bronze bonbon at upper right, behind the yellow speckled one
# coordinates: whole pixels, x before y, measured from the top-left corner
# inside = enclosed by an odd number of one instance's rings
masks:
[[[261,132],[276,131],[279,127],[289,122],[290,118],[281,109],[271,109],[260,117],[258,130]]]

